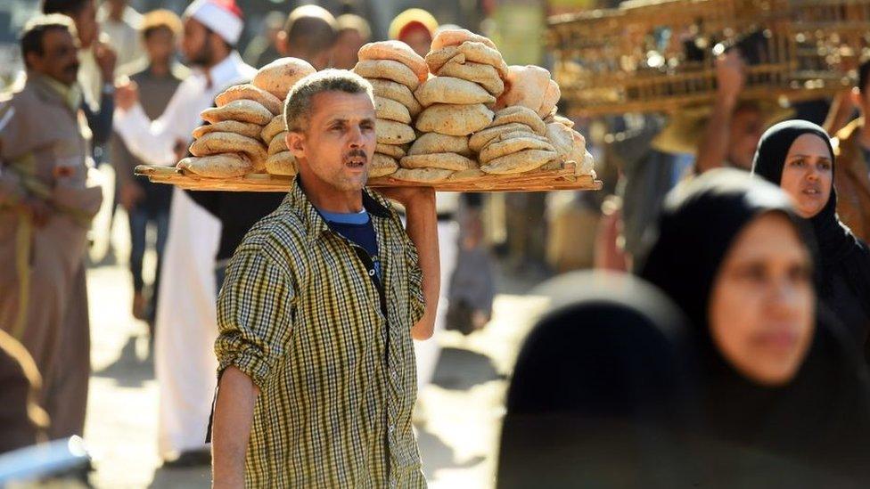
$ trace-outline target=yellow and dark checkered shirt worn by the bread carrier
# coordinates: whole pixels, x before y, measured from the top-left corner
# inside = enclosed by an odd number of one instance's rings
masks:
[[[233,365],[260,389],[248,487],[426,486],[411,428],[423,273],[387,201],[368,190],[363,201],[383,296],[368,255],[332,232],[298,181],[227,269],[218,375]]]

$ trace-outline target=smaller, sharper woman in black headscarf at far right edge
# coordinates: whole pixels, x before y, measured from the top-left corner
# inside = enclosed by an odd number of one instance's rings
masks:
[[[787,120],[761,137],[752,173],[779,185],[818,245],[817,294],[870,356],[870,250],[837,217],[833,149],[821,127]]]

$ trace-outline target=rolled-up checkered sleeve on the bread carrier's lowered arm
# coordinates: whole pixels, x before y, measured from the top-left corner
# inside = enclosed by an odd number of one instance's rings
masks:
[[[293,316],[291,276],[256,245],[242,245],[217,298],[218,377],[234,366],[265,391],[288,345]]]

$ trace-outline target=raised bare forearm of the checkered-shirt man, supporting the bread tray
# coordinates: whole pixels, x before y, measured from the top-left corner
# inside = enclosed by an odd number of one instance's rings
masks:
[[[414,241],[423,271],[423,297],[426,313],[423,319],[414,324],[411,337],[428,339],[435,329],[435,315],[438,313],[438,297],[441,284],[441,265],[438,249],[438,216],[435,212],[435,192],[407,202],[407,233]]]

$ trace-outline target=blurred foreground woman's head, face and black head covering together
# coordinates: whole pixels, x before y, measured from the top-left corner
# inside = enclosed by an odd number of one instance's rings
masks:
[[[789,197],[744,172],[711,170],[669,193],[657,231],[639,274],[693,322],[711,379],[791,382],[812,343],[816,294]]]

